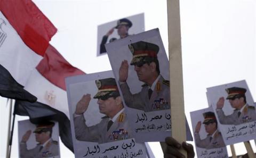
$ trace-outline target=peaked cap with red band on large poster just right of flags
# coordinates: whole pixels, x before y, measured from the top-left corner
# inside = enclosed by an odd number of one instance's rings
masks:
[[[97,85],[99,90],[93,98],[101,98],[105,100],[109,97],[120,96],[118,88],[116,86],[116,80],[114,78],[96,80],[95,84]]]

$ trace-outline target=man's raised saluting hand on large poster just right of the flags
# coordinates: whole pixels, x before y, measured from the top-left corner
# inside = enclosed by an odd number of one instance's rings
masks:
[[[80,101],[76,104],[76,114],[80,115],[83,114],[91,101],[91,94],[83,95],[83,97],[80,99]]]

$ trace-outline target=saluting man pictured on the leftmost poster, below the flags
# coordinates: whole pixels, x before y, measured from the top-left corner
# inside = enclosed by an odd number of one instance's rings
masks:
[[[28,130],[25,135],[23,135],[20,142],[20,157],[21,158],[41,158],[41,157],[53,157],[59,155],[58,142],[52,140],[52,127],[53,122],[44,122],[38,124],[34,130],[36,142],[38,144],[32,149],[27,149],[27,140],[31,135],[31,130]]]

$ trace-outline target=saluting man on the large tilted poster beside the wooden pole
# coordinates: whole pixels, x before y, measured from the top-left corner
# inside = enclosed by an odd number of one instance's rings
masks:
[[[146,41],[138,41],[129,45],[133,54],[131,65],[142,85],[141,92],[132,94],[126,83],[129,64],[126,60],[119,69],[119,84],[124,96],[125,104],[134,109],[145,112],[170,109],[169,81],[165,80],[159,70],[157,53],[159,47]]]

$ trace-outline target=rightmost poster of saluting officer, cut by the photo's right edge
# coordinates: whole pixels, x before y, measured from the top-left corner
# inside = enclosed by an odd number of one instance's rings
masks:
[[[207,88],[226,145],[256,138],[256,112],[245,80]]]

